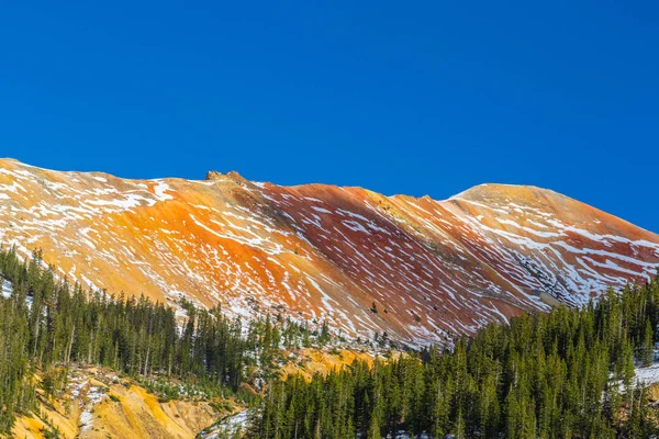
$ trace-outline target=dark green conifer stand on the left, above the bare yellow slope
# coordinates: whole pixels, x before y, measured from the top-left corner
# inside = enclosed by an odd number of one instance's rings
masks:
[[[269,315],[243,335],[239,319],[186,301],[181,327],[172,308],[161,303],[113,297],[57,280],[38,254],[22,262],[14,249],[0,249],[2,279],[11,282],[12,293],[0,296],[0,435],[10,431],[16,413],[36,408],[32,376],[37,370],[47,396],[62,390],[74,362],[135,376],[191,379],[236,392],[246,367],[259,362],[267,369],[281,346],[328,340],[326,325],[315,331]]]

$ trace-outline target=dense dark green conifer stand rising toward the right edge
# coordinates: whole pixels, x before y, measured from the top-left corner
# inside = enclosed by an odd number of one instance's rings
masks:
[[[648,438],[657,434],[636,363],[654,360],[659,281],[489,325],[451,352],[272,383],[252,436],[380,439]],[[391,436],[388,436],[391,435]]]

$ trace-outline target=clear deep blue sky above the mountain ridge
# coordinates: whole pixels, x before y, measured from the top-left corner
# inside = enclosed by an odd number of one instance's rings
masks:
[[[436,199],[536,184],[659,232],[656,1],[9,3],[0,156]]]

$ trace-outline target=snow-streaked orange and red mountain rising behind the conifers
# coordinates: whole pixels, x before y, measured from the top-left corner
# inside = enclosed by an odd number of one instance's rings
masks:
[[[412,345],[582,304],[659,268],[658,235],[534,187],[483,184],[435,201],[235,172],[127,180],[4,159],[0,221],[4,246],[41,249],[85,286]]]

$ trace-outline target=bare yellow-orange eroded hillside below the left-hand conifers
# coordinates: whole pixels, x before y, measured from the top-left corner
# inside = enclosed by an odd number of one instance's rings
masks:
[[[66,439],[191,439],[230,414],[210,402],[161,403],[132,380],[98,368],[74,370],[64,395],[42,402],[38,412],[19,417],[12,436],[42,439],[57,429]]]

